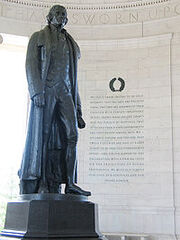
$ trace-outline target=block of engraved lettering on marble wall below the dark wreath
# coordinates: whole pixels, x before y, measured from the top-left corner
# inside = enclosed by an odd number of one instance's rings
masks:
[[[89,181],[129,182],[143,177],[143,95],[92,95],[89,113]]]

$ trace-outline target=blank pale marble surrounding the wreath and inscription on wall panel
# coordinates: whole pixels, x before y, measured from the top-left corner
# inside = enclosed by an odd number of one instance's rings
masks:
[[[92,190],[92,200],[99,204],[102,231],[158,234],[163,229],[164,234],[173,234],[171,37],[80,42],[79,85],[87,128],[80,133],[79,181]],[[113,77],[125,79],[122,93],[109,90]],[[88,96],[137,93],[144,99],[144,177],[131,177],[127,183],[88,177]]]

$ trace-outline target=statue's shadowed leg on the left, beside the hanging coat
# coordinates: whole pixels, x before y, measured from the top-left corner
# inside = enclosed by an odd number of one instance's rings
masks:
[[[47,166],[47,150],[48,150],[48,141],[50,138],[50,131],[52,127],[52,120],[53,120],[53,114],[54,109],[56,105],[56,99],[54,95],[53,88],[46,88],[45,91],[45,106],[43,109],[43,156],[42,156],[42,177],[40,180],[40,187],[39,192],[40,193],[46,193],[49,192],[48,189],[48,179],[47,176],[49,175],[47,173],[48,168]]]

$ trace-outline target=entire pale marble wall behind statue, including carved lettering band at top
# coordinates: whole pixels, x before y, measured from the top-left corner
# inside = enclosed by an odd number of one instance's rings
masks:
[[[0,32],[30,36],[51,4],[17,2],[0,1]],[[82,55],[79,184],[101,230],[180,239],[179,0],[63,3]]]

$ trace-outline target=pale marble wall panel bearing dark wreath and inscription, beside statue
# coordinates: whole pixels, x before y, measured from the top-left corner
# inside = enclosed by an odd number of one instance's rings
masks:
[[[79,42],[79,180],[99,203],[102,231],[174,232],[171,39]],[[109,88],[115,77],[121,92]]]

